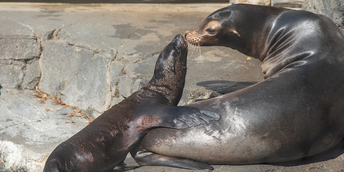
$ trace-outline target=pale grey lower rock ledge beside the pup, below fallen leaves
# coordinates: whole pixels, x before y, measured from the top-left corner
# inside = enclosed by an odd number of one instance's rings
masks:
[[[43,171],[50,152],[84,128],[87,119],[68,118],[71,108],[33,97],[32,90],[0,89],[0,171]],[[46,111],[45,109],[52,109]],[[77,124],[65,123],[75,121]]]

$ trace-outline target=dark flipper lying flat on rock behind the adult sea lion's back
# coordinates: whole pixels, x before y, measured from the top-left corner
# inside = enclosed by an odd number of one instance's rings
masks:
[[[196,85],[203,86],[206,89],[214,90],[218,93],[228,94],[237,90],[246,88],[258,82],[246,82],[246,81],[230,81],[230,80],[209,80],[199,82]]]

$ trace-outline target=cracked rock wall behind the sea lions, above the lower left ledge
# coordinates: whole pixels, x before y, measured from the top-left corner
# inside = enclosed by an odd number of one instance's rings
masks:
[[[176,34],[197,26],[208,13],[195,19],[197,15],[200,13],[0,11],[0,22],[8,23],[0,28],[0,48],[4,50],[0,52],[0,85],[38,86],[98,117],[147,85],[164,46]],[[210,95],[211,91],[196,86],[197,82],[223,77],[233,80],[230,72],[243,72],[247,64],[257,63],[225,47],[201,49],[196,49],[193,57],[189,53],[180,105]],[[258,77],[243,74],[237,80],[261,80],[259,65],[255,66]]]

